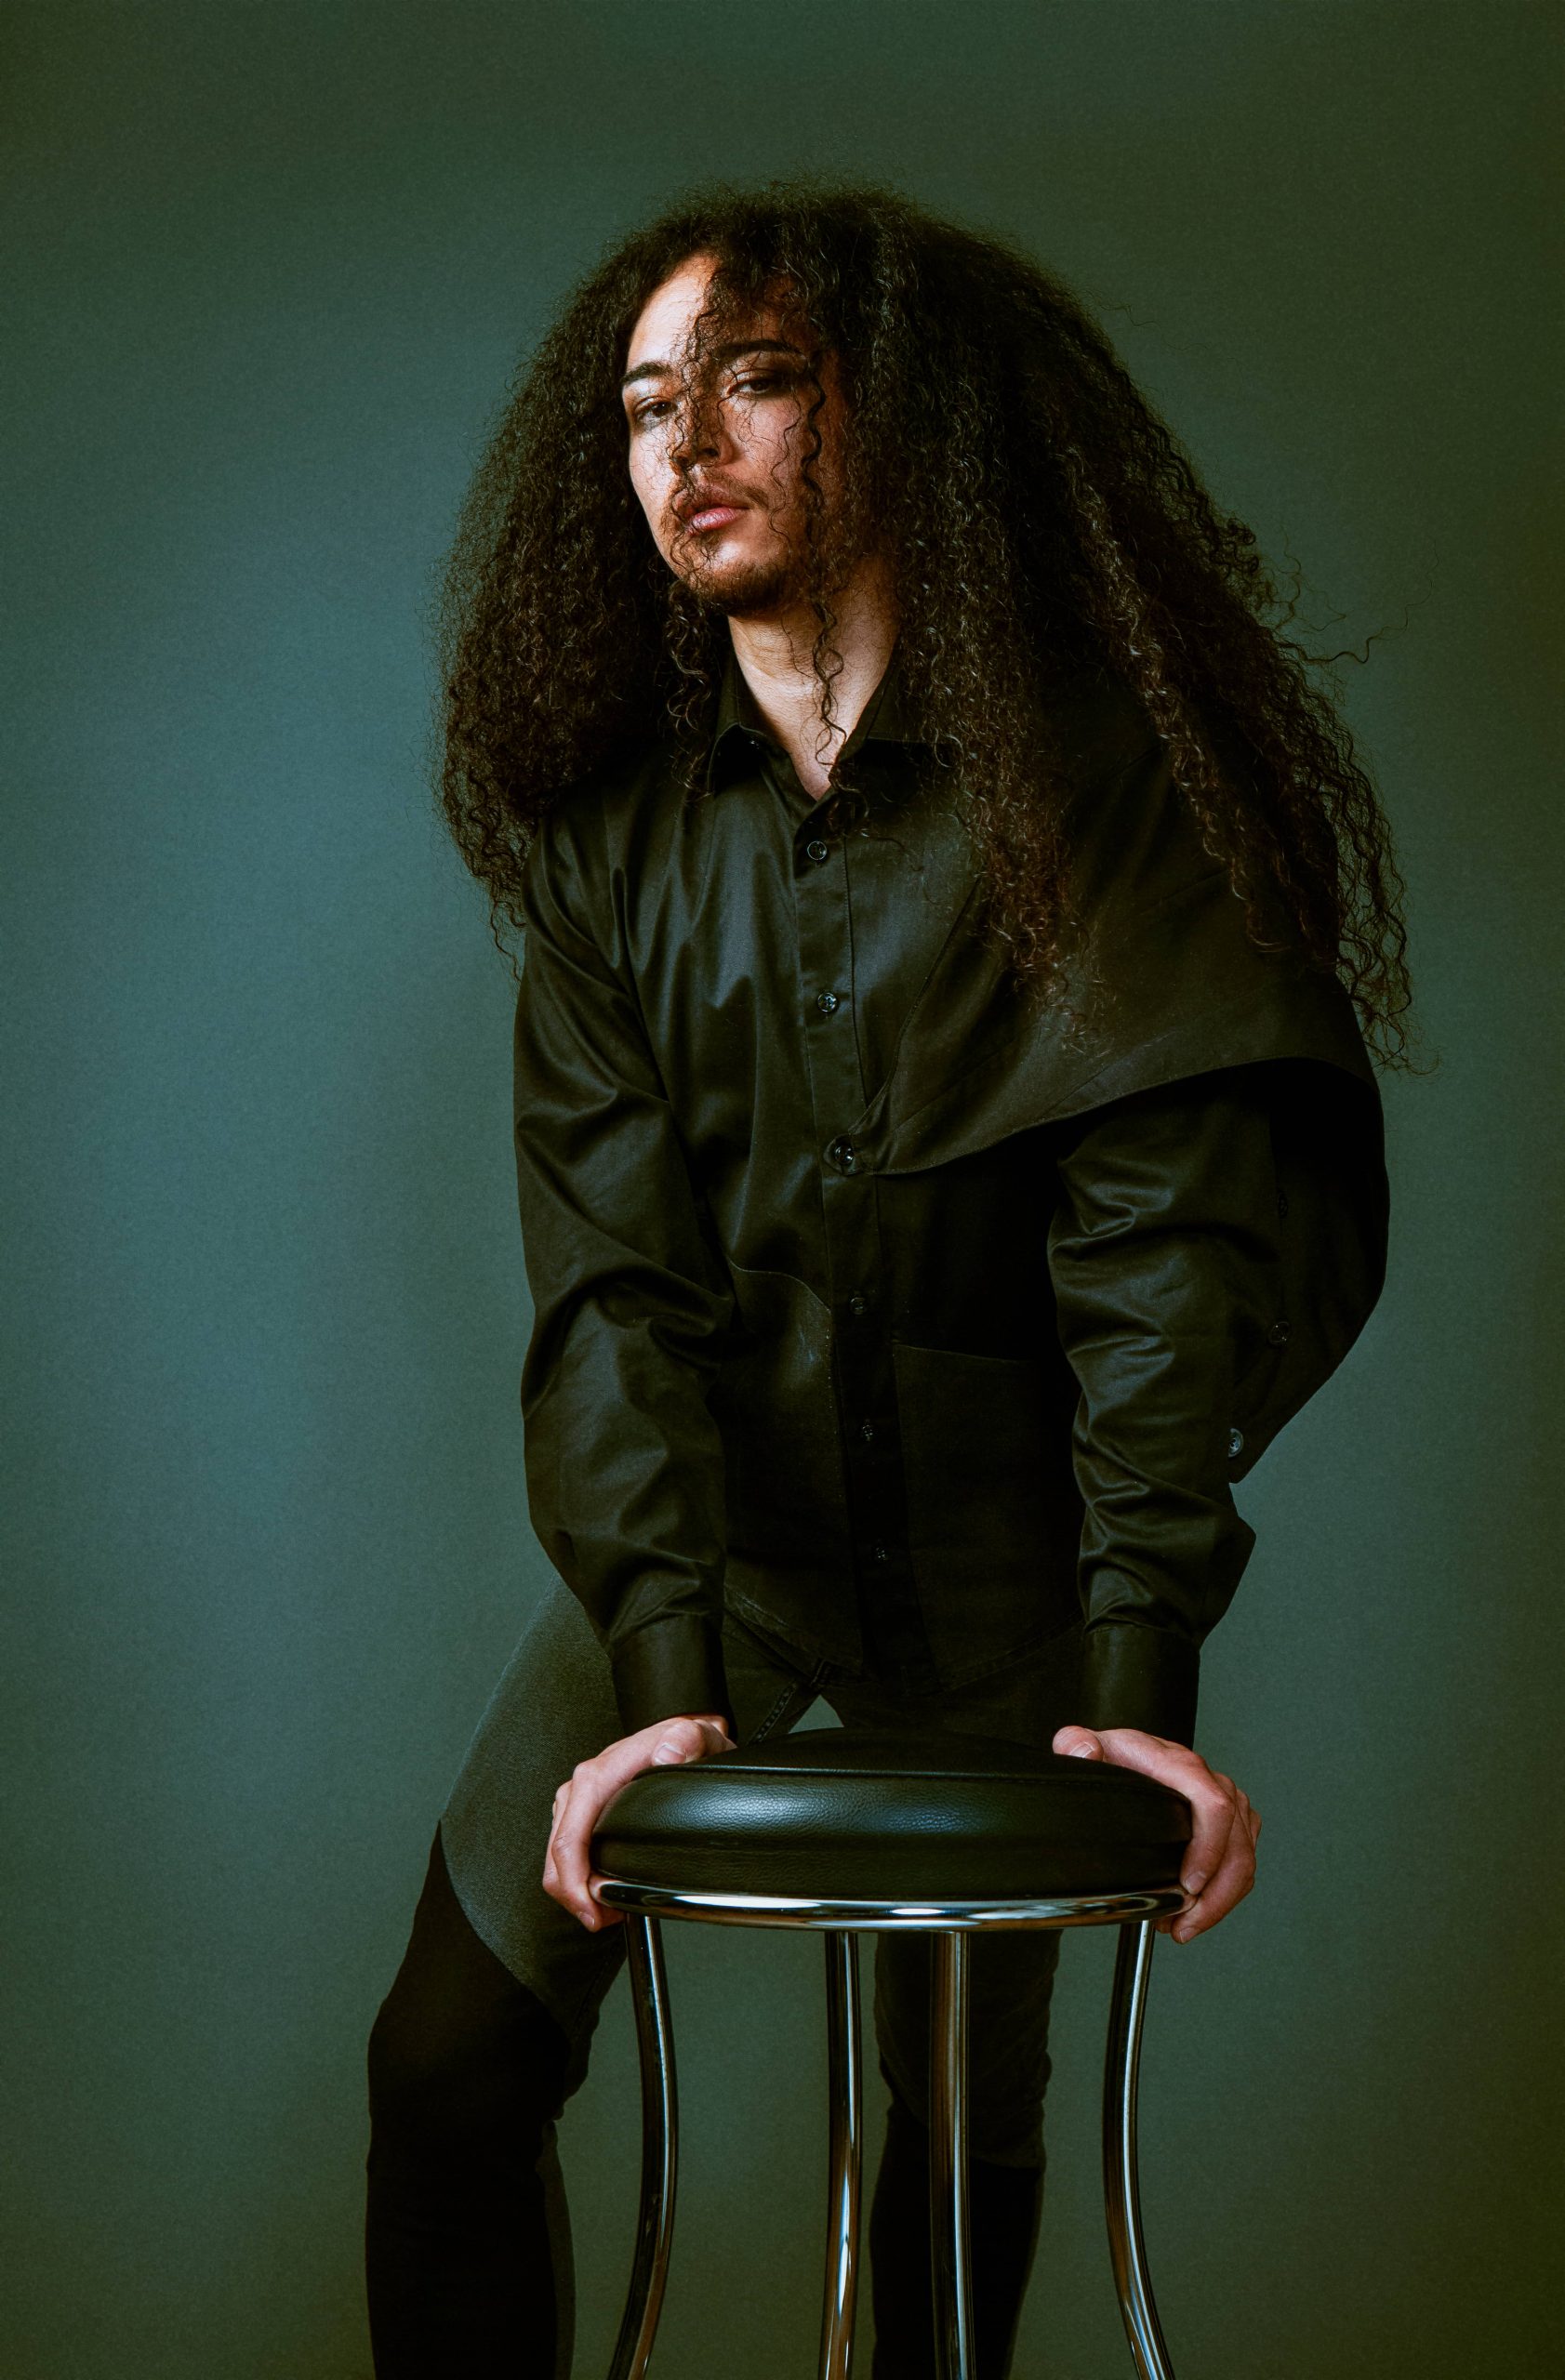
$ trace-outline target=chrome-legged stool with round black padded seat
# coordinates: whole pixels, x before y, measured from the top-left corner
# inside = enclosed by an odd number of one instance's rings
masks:
[[[610,2380],[653,2354],[674,2228],[676,2087],[660,1921],[805,1925],[827,1937],[829,2254],[822,2380],[848,2380],[862,2187],[858,1935],[934,1935],[931,2261],[936,2370],[972,2380],[967,1937],[1120,1925],[1103,2078],[1103,2194],[1141,2380],[1172,2380],[1136,2192],[1136,2068],[1155,1921],[1184,1906],[1189,1802],[1105,1761],[972,1735],[819,1728],[648,1768],[593,1835],[603,1902],[626,1911],[641,2052],[641,2216]]]

